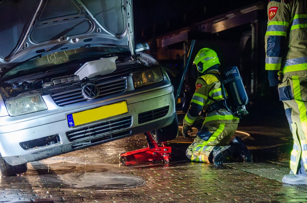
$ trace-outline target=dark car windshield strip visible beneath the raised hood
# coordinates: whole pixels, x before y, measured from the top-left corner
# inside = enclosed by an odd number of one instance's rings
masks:
[[[33,72],[44,72],[51,70],[58,65],[68,63],[87,62],[91,58],[109,57],[118,53],[128,52],[129,50],[119,47],[81,47],[76,49],[55,52],[49,55],[30,59],[24,63],[18,64],[12,70],[8,71],[3,78],[9,76],[26,75]],[[11,77],[10,77],[11,78]]]

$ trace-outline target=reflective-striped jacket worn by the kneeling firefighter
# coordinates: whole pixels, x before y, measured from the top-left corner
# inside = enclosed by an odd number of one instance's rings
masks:
[[[205,112],[204,123],[239,123],[239,118],[233,116],[222,105],[218,105],[220,102],[217,101],[225,99],[222,94],[221,82],[215,75],[208,73],[220,74],[216,70],[211,70],[197,79],[196,92],[183,122],[192,125],[196,119],[199,119],[200,113]],[[212,106],[215,107],[212,108]],[[216,108],[217,106],[221,108]]]

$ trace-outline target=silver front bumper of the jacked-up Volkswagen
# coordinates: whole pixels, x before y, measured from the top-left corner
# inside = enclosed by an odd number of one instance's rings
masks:
[[[143,101],[136,99],[137,102],[133,102],[135,101],[135,95],[121,99],[127,101],[127,106],[129,110],[128,113],[106,118],[97,122],[92,122],[90,124],[76,126],[73,128],[68,127],[66,119],[35,126],[35,123],[40,124],[42,123],[42,119],[48,120],[48,117],[40,117],[29,121],[22,121],[19,123],[12,123],[9,125],[0,126],[0,153],[7,163],[9,163],[10,165],[18,165],[22,163],[46,159],[52,156],[68,153],[86,147],[91,147],[113,140],[122,139],[124,137],[129,137],[138,133],[162,128],[171,124],[176,113],[174,105],[173,86],[153,90],[146,94],[155,95],[155,97],[149,99],[148,97],[143,97],[147,99]],[[95,105],[92,108],[95,108],[97,106],[98,105]],[[138,114],[154,109],[163,108],[165,106],[169,106],[165,116],[139,124]],[[65,118],[65,115],[67,113],[72,112],[61,112],[59,114],[61,114],[62,118]],[[67,136],[67,132],[70,132],[72,130],[82,131],[88,128],[91,130],[87,130],[87,132],[91,132],[92,129],[96,129],[95,126],[97,125],[111,123],[112,121],[123,119],[126,117],[131,118],[131,124],[128,124],[127,127],[124,129],[115,129],[110,133],[97,133],[96,136],[85,136],[84,138],[74,141],[72,141],[71,139],[69,140]],[[87,133],[84,134],[87,135]],[[49,144],[48,146],[31,148],[27,150],[23,149],[20,145],[21,142],[27,142],[29,140],[40,139],[52,135],[58,135],[60,137],[60,141],[55,144]]]

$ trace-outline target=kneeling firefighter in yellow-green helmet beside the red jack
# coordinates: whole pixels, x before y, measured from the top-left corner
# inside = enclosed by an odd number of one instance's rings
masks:
[[[228,157],[250,162],[251,153],[241,138],[236,136],[232,140],[239,118],[221,102],[226,95],[222,92],[223,85],[218,78],[220,61],[216,52],[210,48],[201,49],[193,64],[197,65],[199,77],[196,92],[183,120],[183,134],[187,137],[188,131],[192,132],[192,126],[199,131],[186,151],[188,159],[216,166],[224,163]]]

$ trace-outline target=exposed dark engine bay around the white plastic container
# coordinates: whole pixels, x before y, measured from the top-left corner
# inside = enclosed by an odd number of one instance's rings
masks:
[[[140,65],[140,62],[138,60],[132,59],[132,57],[119,57],[119,59],[116,61],[116,70],[114,73],[109,73],[106,75],[102,75],[100,73],[100,75],[90,79],[80,79],[80,77],[74,73],[80,70],[84,64],[85,63],[77,63],[63,67],[56,67],[44,72],[31,73],[20,76],[16,74],[16,78],[10,78],[2,84],[2,96],[4,99],[8,99],[16,97],[20,94],[49,94],[50,90],[56,91],[58,87],[80,85],[81,83],[89,82],[95,79],[111,77],[112,75],[121,75],[120,73],[125,69],[130,70],[131,67]]]

